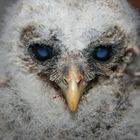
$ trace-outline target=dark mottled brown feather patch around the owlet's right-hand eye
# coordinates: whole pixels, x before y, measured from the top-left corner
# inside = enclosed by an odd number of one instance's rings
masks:
[[[107,32],[104,32],[99,40],[95,42],[91,42],[83,51],[83,55],[87,58],[88,66],[91,70],[96,70],[96,75],[111,75],[114,71],[119,69],[119,65],[124,63],[124,58],[127,57],[127,46],[128,42],[126,42],[126,35],[121,31],[121,29],[117,26],[114,28],[110,28]],[[107,51],[111,55],[107,57],[107,59],[95,58],[97,55],[97,49],[99,48],[110,48]],[[108,53],[108,52],[107,52]],[[98,54],[102,57],[104,52],[100,52]]]

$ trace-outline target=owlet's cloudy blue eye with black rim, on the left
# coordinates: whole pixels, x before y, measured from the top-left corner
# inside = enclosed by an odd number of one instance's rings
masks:
[[[29,52],[38,61],[46,61],[52,58],[52,48],[45,44],[32,44],[29,46]]]

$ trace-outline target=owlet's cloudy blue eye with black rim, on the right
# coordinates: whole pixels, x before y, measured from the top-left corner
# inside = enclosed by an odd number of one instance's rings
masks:
[[[100,61],[106,61],[111,57],[111,46],[99,46],[94,50],[94,58]]]

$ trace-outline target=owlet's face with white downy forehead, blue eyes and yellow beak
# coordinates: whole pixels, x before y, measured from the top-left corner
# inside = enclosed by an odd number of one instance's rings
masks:
[[[133,25],[127,28],[129,13],[122,3],[23,2],[16,21],[24,19],[19,25],[18,59],[29,73],[60,91],[72,112],[95,83],[115,76],[131,57]]]

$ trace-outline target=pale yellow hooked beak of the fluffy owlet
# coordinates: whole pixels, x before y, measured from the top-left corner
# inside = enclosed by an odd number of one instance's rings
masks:
[[[71,66],[68,75],[65,77],[65,81],[67,82],[67,88],[64,91],[64,95],[68,108],[71,112],[75,112],[83,90],[82,77],[76,67]]]

